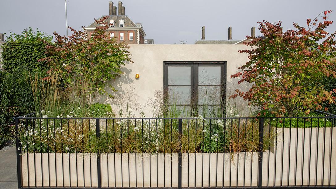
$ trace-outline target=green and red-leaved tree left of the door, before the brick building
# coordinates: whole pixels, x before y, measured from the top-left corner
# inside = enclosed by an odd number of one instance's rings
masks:
[[[107,18],[95,20],[100,26],[90,35],[86,30],[71,27],[71,36],[54,33],[55,44],[47,46],[52,55],[40,60],[47,61],[51,70],[60,71],[67,87],[74,88],[80,96],[89,95],[90,99],[97,94],[113,97],[111,91],[116,90],[107,81],[122,75],[125,63],[133,63],[129,46],[108,37],[106,30],[111,24]],[[106,90],[106,85],[111,91]]]

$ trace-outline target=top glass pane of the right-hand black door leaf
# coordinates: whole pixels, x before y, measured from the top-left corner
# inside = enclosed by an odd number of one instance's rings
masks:
[[[199,85],[220,85],[220,66],[199,66]]]

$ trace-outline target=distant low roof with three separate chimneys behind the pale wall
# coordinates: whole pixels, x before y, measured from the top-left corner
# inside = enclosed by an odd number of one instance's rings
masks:
[[[255,27],[251,28],[251,36],[255,37]],[[233,40],[232,39],[232,27],[227,28],[227,40],[205,40],[205,27],[202,27],[202,38],[201,40],[197,40],[194,44],[208,44],[208,45],[241,45],[245,41],[250,41],[249,39],[245,38],[242,40]]]

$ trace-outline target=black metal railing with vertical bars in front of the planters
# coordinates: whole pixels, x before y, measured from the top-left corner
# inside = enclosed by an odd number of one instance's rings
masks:
[[[15,118],[18,188],[335,187],[336,116]]]

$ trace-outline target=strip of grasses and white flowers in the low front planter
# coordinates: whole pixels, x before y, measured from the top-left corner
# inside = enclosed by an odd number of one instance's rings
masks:
[[[179,150],[213,153],[258,149],[259,123],[252,119],[197,116],[182,119],[182,133],[179,133],[178,119],[100,118],[97,136],[96,119],[52,118],[47,112],[45,115],[20,119],[23,153],[177,153]],[[264,135],[264,142],[267,141]]]

